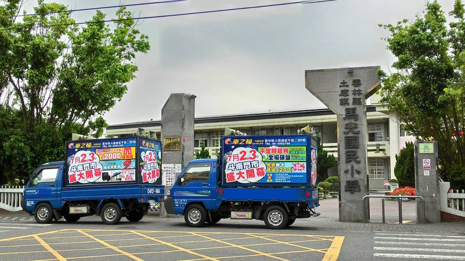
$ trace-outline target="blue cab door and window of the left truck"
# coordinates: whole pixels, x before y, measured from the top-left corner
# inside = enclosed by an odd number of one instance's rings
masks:
[[[57,207],[58,175],[62,172],[60,165],[39,167],[26,188],[26,206],[35,208],[38,202],[49,202]]]

